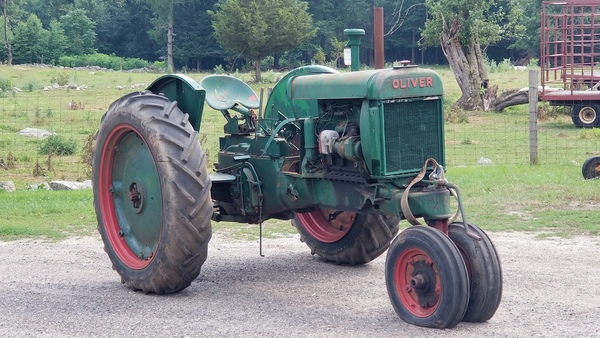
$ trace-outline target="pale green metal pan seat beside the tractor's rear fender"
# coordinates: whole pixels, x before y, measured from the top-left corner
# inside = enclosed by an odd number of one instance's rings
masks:
[[[206,90],[206,103],[215,110],[227,110],[240,104],[248,109],[258,109],[256,93],[241,80],[227,75],[211,75],[202,79]]]

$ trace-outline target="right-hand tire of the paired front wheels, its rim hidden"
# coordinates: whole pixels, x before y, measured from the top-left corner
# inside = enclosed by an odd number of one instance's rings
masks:
[[[494,316],[500,305],[502,267],[488,235],[472,224],[469,224],[469,232],[480,239],[471,238],[463,223],[452,223],[448,227],[448,236],[458,247],[469,275],[471,293],[463,321],[485,322]]]

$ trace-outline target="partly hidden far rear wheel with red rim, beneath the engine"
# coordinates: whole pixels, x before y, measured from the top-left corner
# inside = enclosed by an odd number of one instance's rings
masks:
[[[398,233],[398,217],[320,208],[297,213],[300,240],[325,261],[361,265],[379,257]]]

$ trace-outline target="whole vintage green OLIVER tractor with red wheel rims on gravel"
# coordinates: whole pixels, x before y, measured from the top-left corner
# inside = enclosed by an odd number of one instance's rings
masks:
[[[325,261],[365,264],[389,248],[389,297],[408,323],[450,328],[494,315],[500,260],[444,177],[436,73],[306,66],[261,101],[233,77],[166,75],[110,106],[94,148],[94,206],[123,283],[180,291],[206,260],[211,220],[291,219]],[[211,175],[197,137],[205,102],[226,120]],[[396,236],[401,219],[413,226]]]

